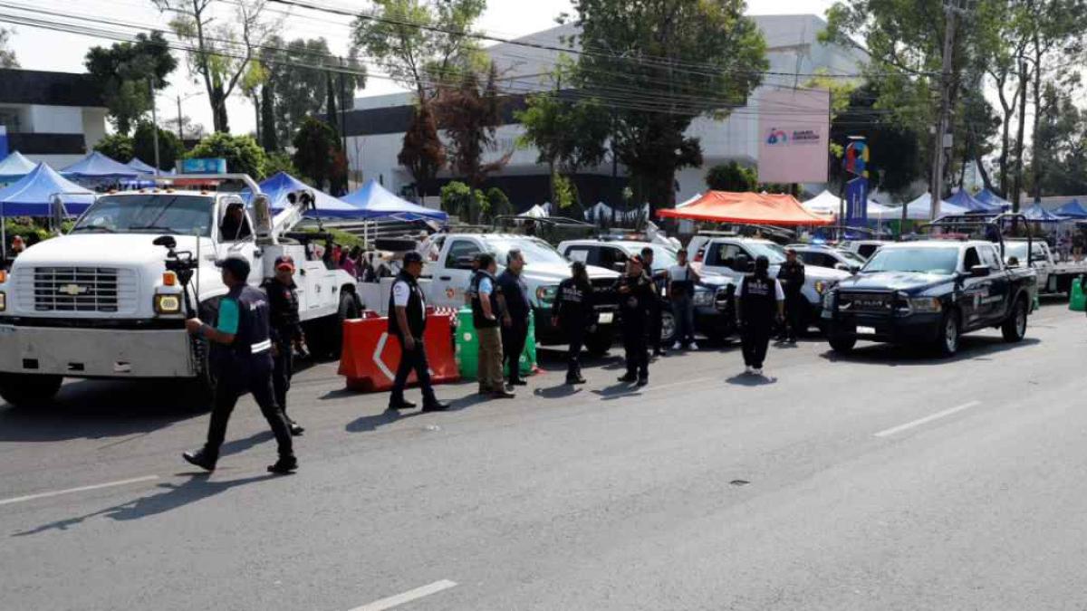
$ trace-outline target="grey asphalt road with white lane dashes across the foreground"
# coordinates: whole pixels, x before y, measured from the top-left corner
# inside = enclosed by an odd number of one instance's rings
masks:
[[[248,398],[208,476],[171,388],[73,383],[0,408],[0,608],[1084,609],[1085,339],[1053,303],[951,360],[812,339],[755,379],[732,347],[640,391],[552,357],[516,400],[399,417],[320,364],[287,477]]]

